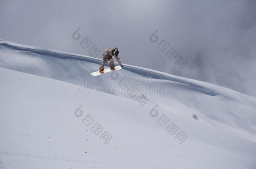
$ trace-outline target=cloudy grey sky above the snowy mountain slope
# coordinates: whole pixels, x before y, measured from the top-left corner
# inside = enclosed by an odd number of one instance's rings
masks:
[[[256,96],[255,9],[255,0],[0,0],[0,39],[89,55],[79,44],[88,37],[100,50],[117,45],[122,63]],[[185,67],[157,47],[162,40]]]

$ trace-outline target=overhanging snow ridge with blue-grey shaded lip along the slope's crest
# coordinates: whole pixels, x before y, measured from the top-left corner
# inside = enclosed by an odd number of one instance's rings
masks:
[[[60,59],[74,59],[74,60],[78,60],[78,61],[86,61],[86,62],[96,63],[96,64],[100,64],[102,61],[101,59],[93,58],[91,56],[79,55],[79,54],[67,53],[67,52],[60,52],[57,50],[44,49],[44,48],[33,47],[33,46],[28,46],[28,45],[20,45],[17,43],[12,43],[12,42],[6,41],[6,40],[1,40],[0,45],[15,49],[15,50],[36,53],[39,55],[52,56],[52,57],[57,57]],[[136,74],[139,74],[141,76],[151,76],[152,78],[155,78],[155,79],[165,79],[165,80],[183,83],[189,89],[207,94],[209,96],[220,95],[220,93],[217,93],[216,91],[214,91],[210,88],[199,85],[198,83],[196,83],[197,82],[196,80],[182,78],[179,76],[173,76],[173,75],[170,75],[167,73],[155,71],[155,70],[148,69],[148,68],[141,68],[138,66],[131,66],[128,64],[123,64],[123,65],[124,65],[123,69],[131,71]],[[109,63],[107,63],[106,66],[109,66]]]

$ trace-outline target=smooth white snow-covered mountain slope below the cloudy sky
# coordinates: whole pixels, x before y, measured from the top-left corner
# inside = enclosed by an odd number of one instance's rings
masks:
[[[256,167],[255,97],[129,65],[91,76],[99,63],[0,41],[0,168]],[[129,86],[144,85],[143,106],[110,90],[123,78]],[[157,85],[164,92],[150,91]],[[81,105],[83,115],[76,117]],[[94,121],[86,126],[88,114]],[[162,115],[169,119],[164,126]],[[97,122],[104,129],[95,135]],[[173,135],[166,131],[171,123],[178,127]],[[104,131],[112,136],[107,144],[99,138]],[[180,131],[187,136],[182,144],[175,137]]]

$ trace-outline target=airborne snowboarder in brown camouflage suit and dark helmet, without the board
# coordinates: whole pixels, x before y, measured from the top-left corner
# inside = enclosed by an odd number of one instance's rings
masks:
[[[114,48],[107,48],[103,51],[103,61],[99,67],[99,73],[104,73],[104,66],[107,63],[107,61],[110,61],[110,69],[112,71],[115,71],[115,66],[114,66],[114,61],[112,56],[115,56],[116,60],[118,61],[119,65],[123,68],[123,65],[120,61],[120,58],[118,57],[118,47],[114,47]]]

